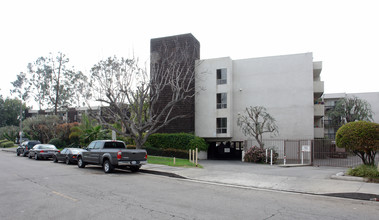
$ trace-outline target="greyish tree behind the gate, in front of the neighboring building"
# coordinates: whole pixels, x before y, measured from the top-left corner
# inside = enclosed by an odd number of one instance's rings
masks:
[[[353,121],[372,121],[373,112],[370,103],[353,96],[339,100],[327,114],[332,123],[343,125]]]

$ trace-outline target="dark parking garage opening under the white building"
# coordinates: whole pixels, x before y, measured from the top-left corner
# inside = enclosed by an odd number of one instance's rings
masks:
[[[243,141],[209,141],[208,160],[241,160]]]

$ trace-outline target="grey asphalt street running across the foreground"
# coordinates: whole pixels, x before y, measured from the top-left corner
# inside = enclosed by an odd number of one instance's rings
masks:
[[[377,202],[188,181],[0,152],[0,219],[378,219]]]

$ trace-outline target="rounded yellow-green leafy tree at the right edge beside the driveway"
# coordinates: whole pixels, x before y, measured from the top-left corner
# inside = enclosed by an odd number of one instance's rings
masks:
[[[379,124],[349,122],[338,129],[336,145],[353,152],[364,164],[375,165],[375,155],[379,150]]]

